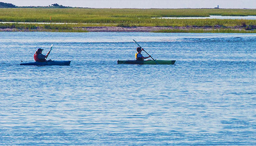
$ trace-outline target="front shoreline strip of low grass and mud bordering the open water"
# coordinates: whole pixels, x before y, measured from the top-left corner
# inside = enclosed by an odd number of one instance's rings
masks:
[[[256,26],[254,26],[256,28]],[[256,33],[256,30],[246,30],[246,27],[222,26],[70,26],[65,24],[31,25],[10,23],[8,26],[0,23],[0,32],[154,32],[154,33]]]

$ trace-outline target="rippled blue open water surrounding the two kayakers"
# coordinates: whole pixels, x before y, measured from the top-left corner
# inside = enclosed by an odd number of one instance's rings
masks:
[[[175,65],[117,65],[134,58],[132,39]],[[0,145],[256,145],[255,40],[0,32]],[[48,59],[70,66],[19,65],[51,44]]]

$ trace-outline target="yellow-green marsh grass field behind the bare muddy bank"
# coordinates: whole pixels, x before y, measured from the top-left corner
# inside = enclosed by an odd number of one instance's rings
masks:
[[[256,9],[94,9],[94,8],[0,8],[0,21],[8,22],[66,22],[77,26],[244,26],[256,25],[256,20],[230,19],[152,19],[155,17],[199,17],[209,15],[256,15]],[[50,21],[51,17],[51,21]],[[82,24],[87,23],[87,24]],[[17,25],[17,24],[15,24]],[[22,24],[20,24],[22,25]],[[45,28],[40,24],[33,27]],[[4,26],[3,26],[4,27]],[[20,26],[21,27],[21,26]],[[23,26],[27,27],[27,25]],[[30,27],[30,26],[28,26]],[[60,30],[56,24],[49,29]],[[66,29],[70,30],[70,29]]]

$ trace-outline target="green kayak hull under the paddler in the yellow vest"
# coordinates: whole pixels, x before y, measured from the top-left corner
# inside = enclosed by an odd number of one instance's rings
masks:
[[[117,64],[137,64],[137,65],[173,65],[176,60],[147,60],[147,61],[136,61],[136,60],[118,60]]]

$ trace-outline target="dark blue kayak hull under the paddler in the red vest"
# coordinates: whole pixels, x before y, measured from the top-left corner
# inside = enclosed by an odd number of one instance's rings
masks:
[[[20,63],[22,66],[69,66],[71,61],[47,61],[47,62],[29,62]]]

